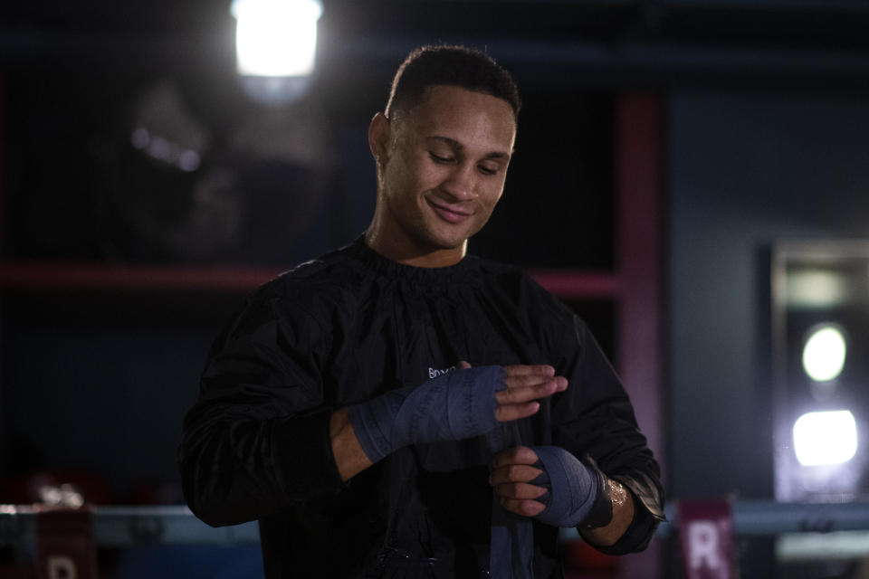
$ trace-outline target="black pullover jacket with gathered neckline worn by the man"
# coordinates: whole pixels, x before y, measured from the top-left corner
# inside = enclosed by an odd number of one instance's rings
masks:
[[[467,441],[396,451],[349,483],[330,414],[472,365],[549,364],[568,389]],[[662,517],[659,469],[587,327],[520,271],[468,256],[441,269],[361,240],[260,288],[209,354],[179,451],[206,523],[260,520],[266,576],[477,576],[488,567],[492,439],[588,455],[636,500],[604,550],[645,547]],[[558,529],[535,522],[535,576],[559,576]]]

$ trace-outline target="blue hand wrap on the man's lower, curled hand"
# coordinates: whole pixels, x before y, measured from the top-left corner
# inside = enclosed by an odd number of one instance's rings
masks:
[[[532,446],[538,456],[534,466],[543,470],[531,484],[545,487],[537,498],[544,508],[535,518],[553,527],[595,528],[613,517],[609,484],[600,470],[558,446]]]

